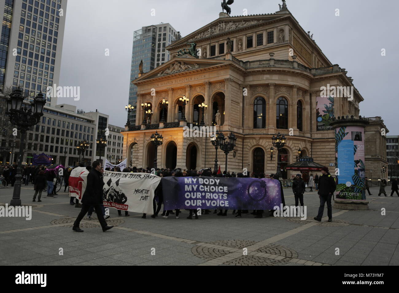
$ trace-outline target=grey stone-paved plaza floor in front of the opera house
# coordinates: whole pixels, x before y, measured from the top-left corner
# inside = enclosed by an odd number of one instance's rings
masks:
[[[107,222],[113,229],[102,232],[93,217],[81,222],[85,232],[76,233],[71,227],[80,209],[69,205],[67,193],[32,203],[33,187],[22,186],[22,203],[32,205],[32,220],[0,218],[0,264],[399,265],[399,198],[378,197],[378,187],[371,192],[370,210],[333,209],[330,223],[326,209],[322,222],[313,220],[319,200],[316,192],[306,192],[306,220],[235,218],[232,210],[198,220],[186,219],[188,211],[179,219],[143,219],[111,209]],[[292,191],[284,189],[284,195],[286,204],[294,205]],[[11,198],[12,187],[0,189],[0,205]]]

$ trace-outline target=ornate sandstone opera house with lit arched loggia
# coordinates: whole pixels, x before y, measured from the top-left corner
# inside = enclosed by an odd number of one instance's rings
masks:
[[[132,81],[138,88],[136,126],[126,125],[122,132],[123,157],[130,166],[153,167],[156,147],[150,136],[157,131],[163,136],[157,148],[158,168],[213,169],[215,147],[210,138],[183,135],[183,126],[201,125],[203,117],[205,126],[220,120],[216,130],[226,138],[230,132],[237,137],[228,155],[228,171],[276,173],[279,160],[283,178],[291,178],[298,172],[284,167],[296,161],[299,149],[300,156],[313,157],[322,165],[335,163],[329,118],[359,116],[363,97],[353,79],[330,62],[286,7],[249,16],[221,12],[217,20],[167,49],[170,61]],[[322,87],[352,87],[352,97],[338,91],[323,98]],[[186,105],[179,100],[184,96],[189,99]],[[144,103],[152,115],[142,110]],[[202,103],[205,110],[198,106]],[[385,127],[382,120],[378,127]],[[272,136],[279,132],[286,145],[279,154],[275,149],[271,158]],[[378,140],[373,144],[382,146],[377,148],[378,158],[371,156],[379,172],[387,165],[385,138],[378,138],[377,128],[372,133]],[[217,151],[224,171],[225,154]]]

